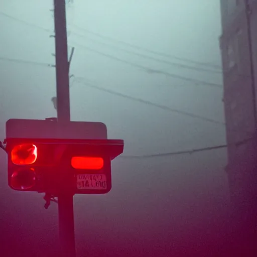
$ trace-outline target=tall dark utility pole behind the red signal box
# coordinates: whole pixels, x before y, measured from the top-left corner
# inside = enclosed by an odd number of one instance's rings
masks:
[[[69,62],[65,0],[54,0],[57,122],[70,121]],[[62,170],[61,193],[58,195],[59,236],[62,255],[75,257],[73,193],[68,170]]]

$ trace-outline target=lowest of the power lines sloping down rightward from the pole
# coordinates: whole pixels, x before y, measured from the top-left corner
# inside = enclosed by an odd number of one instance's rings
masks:
[[[204,116],[201,116],[201,115],[198,115],[198,114],[194,114],[194,113],[190,113],[190,112],[187,112],[187,111],[183,111],[183,110],[178,110],[176,108],[171,108],[171,107],[161,105],[161,104],[158,104],[158,103],[153,103],[151,101],[144,100],[144,99],[137,98],[137,97],[133,97],[133,96],[129,96],[129,95],[126,95],[126,94],[122,94],[122,93],[116,92],[116,91],[111,90],[111,89],[106,89],[106,88],[103,88],[103,87],[99,87],[99,86],[95,85],[94,83],[88,82],[85,78],[77,77],[76,80],[78,82],[82,83],[82,84],[85,84],[85,85],[89,86],[89,87],[92,87],[92,88],[95,88],[95,89],[98,89],[100,91],[104,91],[104,92],[107,92],[107,93],[110,93],[110,94],[113,94],[113,95],[117,95],[117,96],[127,98],[127,99],[130,99],[130,100],[133,100],[133,101],[137,101],[137,102],[145,103],[145,104],[148,104],[148,105],[152,105],[152,106],[155,106],[155,107],[163,109],[163,110],[168,110],[168,111],[175,112],[175,113],[178,113],[178,114],[182,114],[182,115],[185,115],[185,116],[189,116],[189,117],[192,117],[192,118],[198,118],[198,119],[208,121],[208,122],[211,122],[211,123],[224,125],[223,122],[217,121],[215,119],[207,118],[207,117],[204,117]],[[83,81],[85,81],[85,82],[83,82]]]

